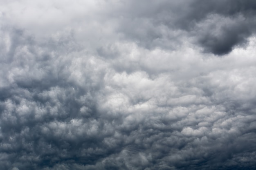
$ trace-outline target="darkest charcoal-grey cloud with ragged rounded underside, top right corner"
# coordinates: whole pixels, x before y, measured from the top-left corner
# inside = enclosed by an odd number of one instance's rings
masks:
[[[192,11],[188,13],[188,19],[202,22],[200,27],[206,25],[207,29],[200,29],[204,32],[197,33],[200,37],[199,44],[205,51],[224,55],[232,51],[234,46],[247,42],[247,38],[255,33],[255,12],[256,3],[254,1],[205,2],[198,0],[193,4]],[[209,28],[207,18],[212,20],[215,17],[215,22],[210,23]]]

